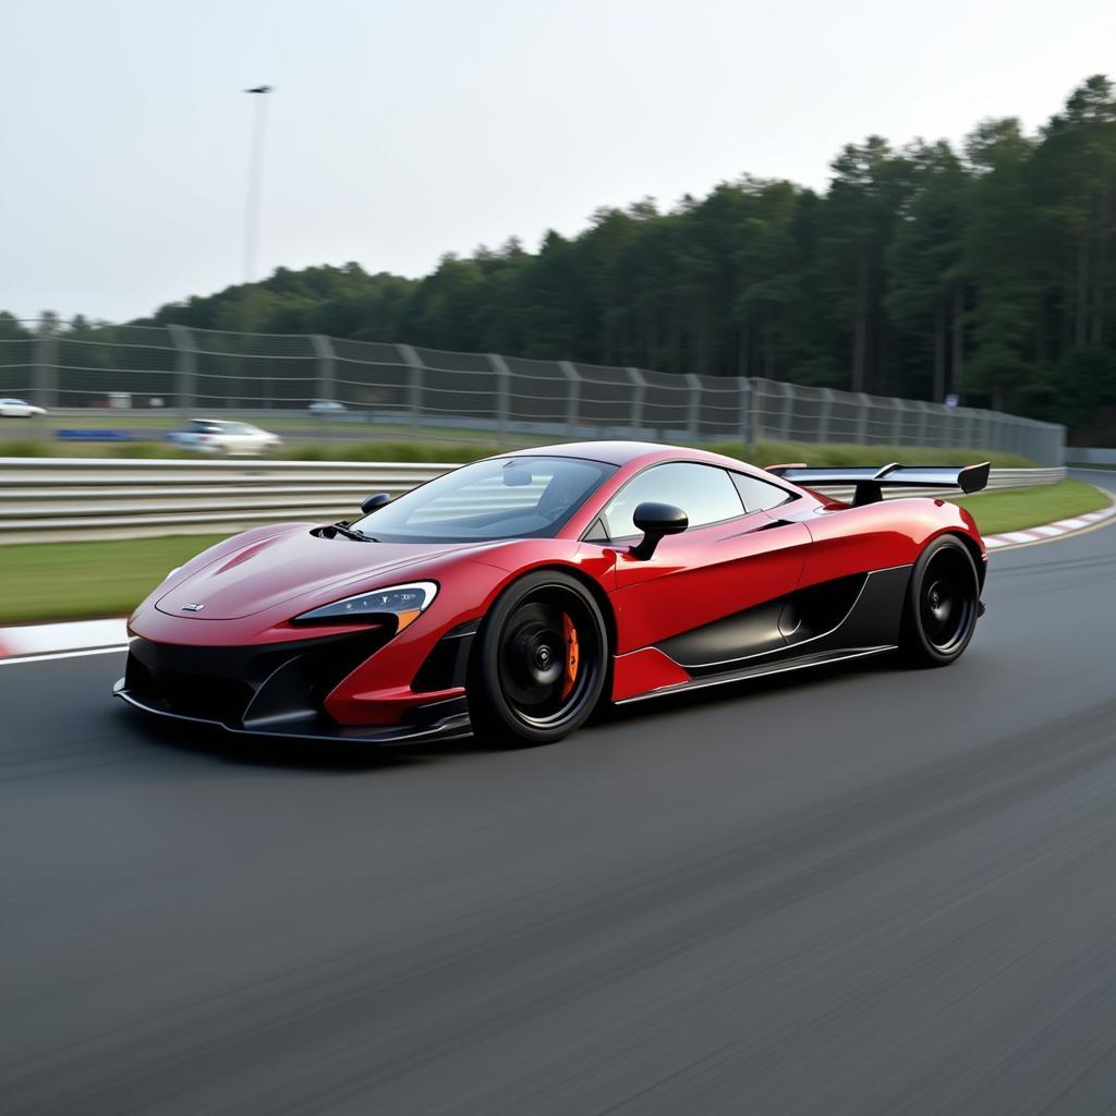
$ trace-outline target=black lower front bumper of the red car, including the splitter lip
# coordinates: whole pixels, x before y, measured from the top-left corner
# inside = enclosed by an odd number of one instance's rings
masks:
[[[325,712],[326,695],[384,642],[377,632],[247,647],[135,638],[113,693],[147,713],[250,735],[377,744],[469,735],[464,696],[432,693],[394,724],[346,725]]]

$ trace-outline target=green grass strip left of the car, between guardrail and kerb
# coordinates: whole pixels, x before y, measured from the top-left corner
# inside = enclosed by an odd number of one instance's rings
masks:
[[[0,547],[0,624],[127,616],[220,535]]]

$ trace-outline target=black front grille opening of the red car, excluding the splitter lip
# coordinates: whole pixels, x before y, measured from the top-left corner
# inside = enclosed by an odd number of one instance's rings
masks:
[[[318,716],[329,691],[388,638],[364,631],[252,647],[133,639],[125,686],[170,713],[230,727],[254,716]]]

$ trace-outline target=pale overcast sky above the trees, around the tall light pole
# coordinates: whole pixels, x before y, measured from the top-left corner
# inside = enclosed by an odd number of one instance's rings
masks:
[[[0,309],[113,320],[258,272],[536,248],[849,141],[1037,127],[1116,76],[1113,0],[4,0]]]

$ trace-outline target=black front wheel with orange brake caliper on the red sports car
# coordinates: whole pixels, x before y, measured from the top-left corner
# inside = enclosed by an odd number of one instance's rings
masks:
[[[484,617],[470,664],[477,739],[522,748],[568,737],[600,701],[607,665],[604,617],[576,578],[540,570],[513,581]]]

